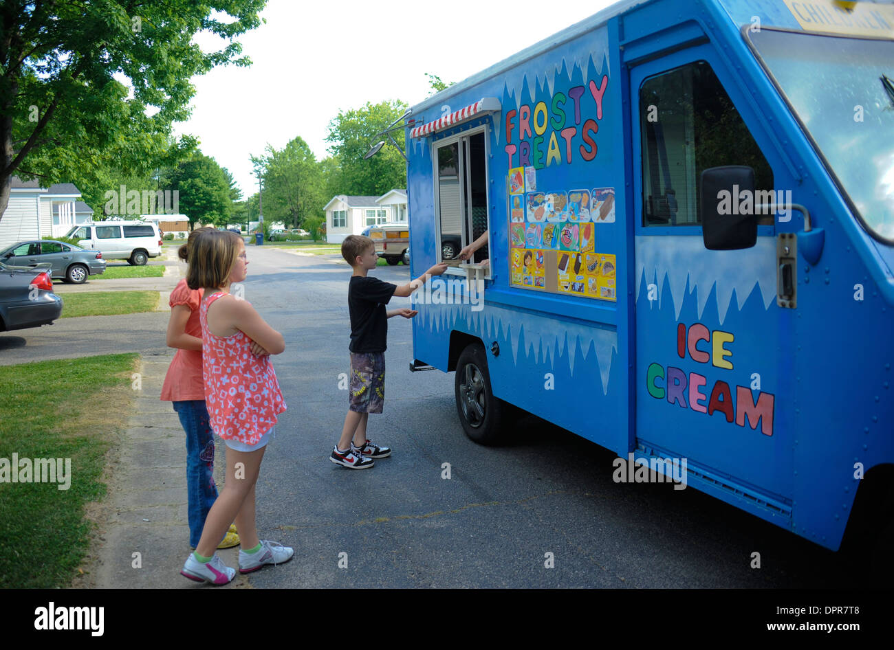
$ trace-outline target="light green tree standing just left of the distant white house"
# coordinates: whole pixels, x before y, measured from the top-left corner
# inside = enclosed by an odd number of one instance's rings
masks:
[[[325,205],[325,184],[320,164],[308,143],[295,137],[277,151],[266,147],[266,155],[255,158],[264,179],[264,221],[283,221],[298,228]]]

